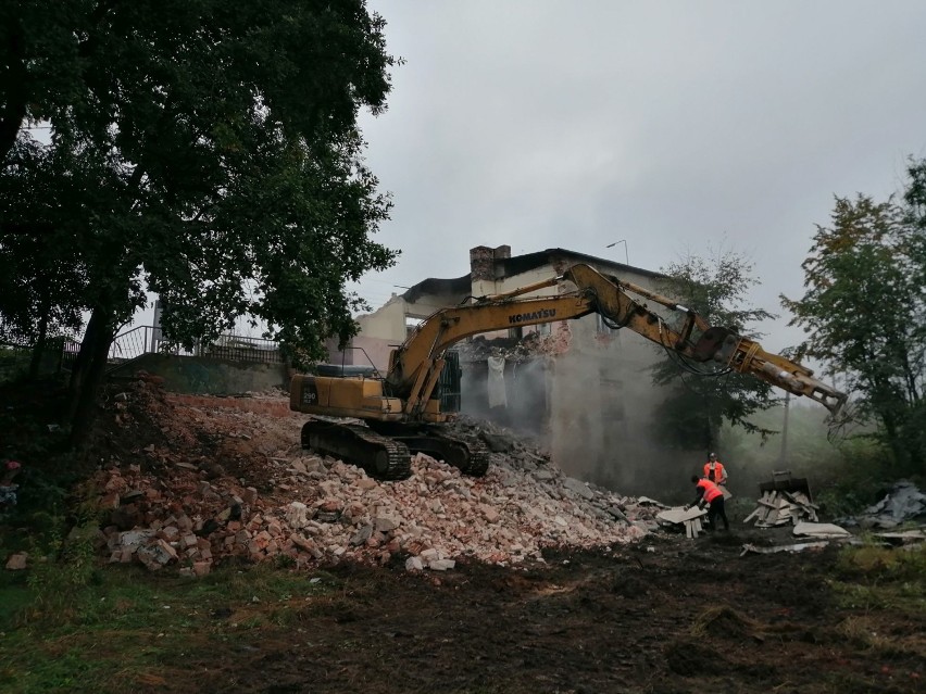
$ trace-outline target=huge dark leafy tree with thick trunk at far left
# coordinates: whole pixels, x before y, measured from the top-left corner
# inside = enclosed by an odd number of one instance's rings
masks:
[[[0,248],[22,256],[26,241],[66,228],[61,263],[83,285],[59,301],[90,316],[71,383],[75,442],[146,289],[186,345],[245,314],[301,359],[353,335],[362,302],[346,281],[396,257],[370,238],[390,201],[356,124],[361,108],[386,108],[396,61],[383,18],[364,0],[48,7],[4,3],[2,70],[22,80],[0,87],[0,176],[42,177],[74,214],[64,227],[4,199]],[[52,133],[45,159],[66,165],[59,177],[10,165],[36,147],[23,131],[11,141],[11,123],[40,119]]]

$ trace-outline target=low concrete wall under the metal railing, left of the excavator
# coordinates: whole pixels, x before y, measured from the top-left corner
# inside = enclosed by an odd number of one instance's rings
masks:
[[[143,354],[111,375],[130,377],[136,371],[160,376],[164,379],[164,389],[175,393],[226,395],[289,388],[289,371],[284,364],[248,364],[172,354]]]

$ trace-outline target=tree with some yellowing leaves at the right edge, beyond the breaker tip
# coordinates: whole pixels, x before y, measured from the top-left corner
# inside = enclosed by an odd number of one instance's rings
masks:
[[[804,261],[805,293],[781,296],[808,333],[801,350],[841,374],[873,418],[897,471],[922,469],[926,355],[926,162],[911,163],[903,203],[836,198]]]

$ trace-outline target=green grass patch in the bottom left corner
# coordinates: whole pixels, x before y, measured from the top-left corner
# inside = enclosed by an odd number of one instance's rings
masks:
[[[74,552],[24,573],[0,584],[0,691],[21,694],[171,692],[172,672],[214,668],[228,644],[258,642],[342,590],[330,576],[270,565],[202,579],[87,570]]]

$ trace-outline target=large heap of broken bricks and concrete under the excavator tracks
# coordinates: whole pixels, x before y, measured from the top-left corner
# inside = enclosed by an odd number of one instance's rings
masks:
[[[278,396],[265,399],[263,415],[253,403],[235,408],[235,399],[207,399],[210,408],[150,390],[161,443],[139,449],[147,464],[113,459],[95,479],[100,547],[114,563],[190,575],[233,557],[300,567],[403,559],[410,570],[446,570],[461,558],[541,560],[545,547],[625,543],[656,528],[656,506],[570,478],[502,430],[459,425],[493,451],[483,478],[418,454],[409,479],[379,482],[303,451],[304,417],[281,416]],[[174,441],[200,447],[185,455]]]

